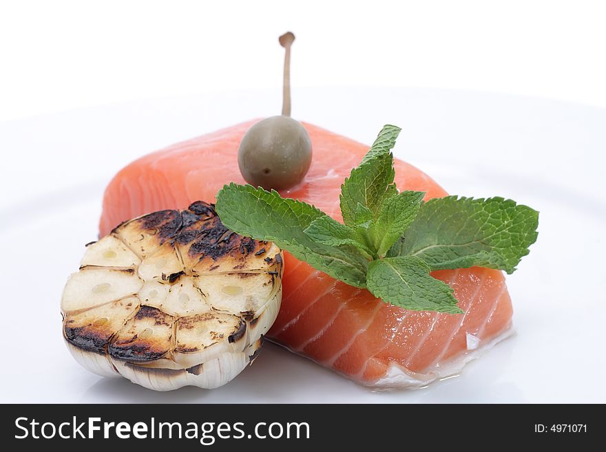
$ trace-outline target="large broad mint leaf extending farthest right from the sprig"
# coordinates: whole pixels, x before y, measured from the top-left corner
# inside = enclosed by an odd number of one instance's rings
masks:
[[[481,266],[512,273],[536,241],[539,213],[502,197],[448,196],[423,204],[388,255],[421,257],[432,270]]]

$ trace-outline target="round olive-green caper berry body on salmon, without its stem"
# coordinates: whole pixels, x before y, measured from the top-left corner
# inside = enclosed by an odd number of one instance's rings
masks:
[[[289,189],[303,180],[311,165],[309,134],[289,116],[261,120],[242,138],[238,165],[253,186]]]

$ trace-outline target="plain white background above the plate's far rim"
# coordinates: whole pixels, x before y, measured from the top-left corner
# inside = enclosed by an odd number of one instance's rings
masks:
[[[606,106],[604,1],[4,1],[0,121],[278,87],[406,86]],[[296,108],[296,106],[295,106]],[[293,111],[296,114],[296,110]]]

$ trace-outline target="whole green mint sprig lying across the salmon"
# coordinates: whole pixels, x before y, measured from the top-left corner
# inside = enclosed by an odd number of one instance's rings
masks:
[[[398,193],[391,149],[399,127],[386,125],[342,185],[344,224],[276,191],[229,184],[217,194],[223,224],[273,241],[313,268],[387,303],[410,310],[461,313],[432,270],[484,266],[516,269],[536,241],[539,213],[501,197]]]

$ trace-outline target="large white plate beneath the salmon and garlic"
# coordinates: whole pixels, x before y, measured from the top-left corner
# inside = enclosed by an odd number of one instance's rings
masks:
[[[606,402],[606,110],[429,89],[297,89],[293,114],[362,142],[400,125],[395,153],[450,193],[541,211],[508,277],[517,334],[460,376],[376,393],[272,344],[229,385],[148,391],[76,364],[59,299],[96,238],[103,188],[167,144],[277,114],[280,92],[147,100],[0,123],[1,402]]]

